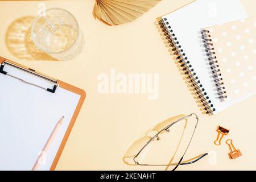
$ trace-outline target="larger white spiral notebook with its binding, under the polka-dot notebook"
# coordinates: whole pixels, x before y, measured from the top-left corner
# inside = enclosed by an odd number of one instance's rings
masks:
[[[216,114],[237,101],[222,102],[216,92],[200,30],[247,17],[239,0],[197,0],[157,18],[160,35],[203,114]]]

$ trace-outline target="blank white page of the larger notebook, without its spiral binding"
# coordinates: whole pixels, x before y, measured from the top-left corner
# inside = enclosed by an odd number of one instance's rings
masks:
[[[197,0],[191,4],[162,16],[170,23],[180,46],[188,57],[205,88],[216,112],[224,110],[233,103],[220,102],[214,95],[213,83],[203,53],[200,30],[204,27],[237,19],[247,18],[247,13],[239,0]]]

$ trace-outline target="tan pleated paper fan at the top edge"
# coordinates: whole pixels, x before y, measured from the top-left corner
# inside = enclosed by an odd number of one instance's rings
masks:
[[[161,0],[96,0],[93,16],[109,26],[131,22]]]

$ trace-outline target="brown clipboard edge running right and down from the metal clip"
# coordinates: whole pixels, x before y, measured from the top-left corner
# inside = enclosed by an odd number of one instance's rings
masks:
[[[66,131],[66,133],[64,135],[64,138],[63,138],[63,140],[62,140],[62,142],[60,144],[59,150],[57,151],[55,159],[53,160],[53,163],[52,163],[52,166],[50,168],[50,171],[54,171],[56,166],[57,166],[57,163],[58,163],[58,161],[60,159],[61,153],[64,150],[65,144],[67,143],[68,137],[69,137],[69,135],[71,133],[71,130],[72,130],[74,124],[75,124],[76,118],[77,118],[77,116],[78,116],[78,114],[79,114],[79,112],[81,110],[82,104],[84,103],[84,100],[85,100],[85,97],[86,97],[85,91],[80,89],[80,88],[77,88],[75,86],[69,85],[69,84],[67,84],[67,83],[65,83],[63,81],[60,81],[60,80],[58,81],[58,84],[59,84],[59,86],[61,88],[65,89],[65,90],[68,90],[69,92],[73,92],[73,93],[79,94],[81,97],[80,97],[80,100],[79,100],[79,102],[77,104],[75,112],[74,112],[74,114],[72,116],[72,119],[71,119],[71,121],[70,121],[70,123],[68,125],[68,129],[67,129],[67,131]]]

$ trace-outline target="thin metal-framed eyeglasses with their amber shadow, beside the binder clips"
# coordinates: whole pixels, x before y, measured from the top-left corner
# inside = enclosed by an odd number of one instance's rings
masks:
[[[195,117],[196,118],[196,123],[195,123],[195,127],[193,127],[192,130],[192,135],[188,140],[188,144],[185,145],[185,151],[182,153],[182,156],[180,158],[180,160],[178,162],[173,162],[174,160],[174,156],[177,154],[177,151],[181,145],[181,140],[183,139],[183,135],[185,133],[185,129],[187,129],[187,125],[188,125],[188,118],[191,117]],[[170,131],[173,129],[173,127],[175,125],[177,125],[177,123],[182,123],[184,122],[184,127],[183,127],[183,131],[181,132],[181,137],[179,139],[179,142],[177,144],[177,148],[174,152],[174,155],[172,156],[170,162],[168,164],[143,164],[138,162],[138,158],[140,155],[142,155],[142,153],[146,150],[146,148],[148,146],[150,146],[152,143],[155,143],[157,141],[160,140],[160,137],[162,138],[164,134],[166,133],[170,133]],[[146,134],[142,135],[141,138],[137,139],[126,151],[125,156],[123,157],[123,162],[131,165],[131,166],[166,166],[166,170],[171,167],[174,166],[174,168],[172,169],[172,171],[174,171],[178,166],[182,166],[182,165],[187,165],[187,164],[193,164],[197,161],[199,161],[200,159],[204,158],[204,156],[208,155],[207,153],[195,156],[192,159],[188,159],[188,160],[184,160],[184,156],[191,144],[192,138],[195,134],[196,131],[196,127],[198,125],[199,122],[199,118],[197,117],[196,114],[190,114],[190,115],[177,115],[176,117],[172,117],[167,119],[166,121],[163,121],[161,123],[159,123],[158,125],[156,125],[155,127],[153,127],[152,129],[148,130],[146,132]],[[150,135],[151,133],[156,133],[154,135]],[[131,160],[132,159],[132,160]],[[131,162],[128,162],[128,160],[131,160]]]

